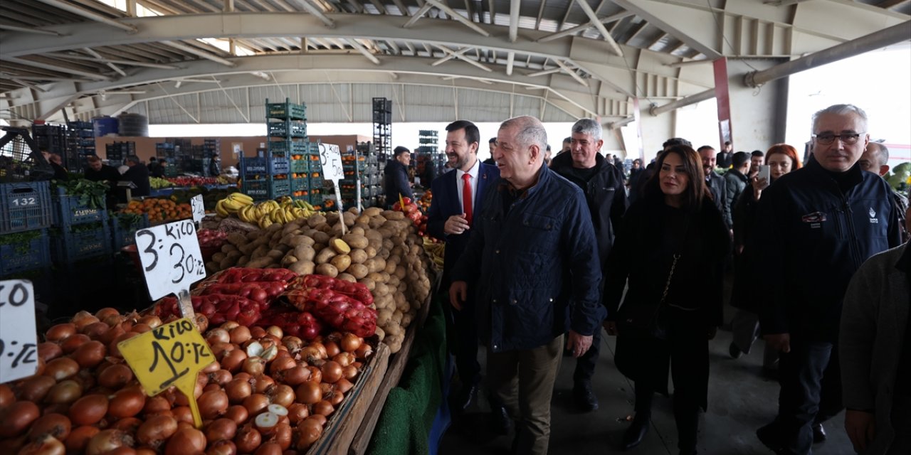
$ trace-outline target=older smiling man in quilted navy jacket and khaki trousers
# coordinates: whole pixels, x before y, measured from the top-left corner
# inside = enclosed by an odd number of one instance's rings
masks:
[[[588,351],[599,329],[601,278],[585,197],[543,166],[547,143],[537,118],[500,126],[494,159],[501,179],[487,193],[449,289],[461,308],[466,282],[476,283],[471,292],[488,383],[517,420],[514,451],[536,455],[548,452],[563,335],[568,330],[575,357]]]

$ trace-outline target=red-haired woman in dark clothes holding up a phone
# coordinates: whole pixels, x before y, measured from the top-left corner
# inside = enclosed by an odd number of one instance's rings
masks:
[[[787,144],[775,144],[765,153],[765,164],[769,167],[769,180],[752,177],[750,185],[743,189],[740,199],[733,211],[734,222],[734,284],[731,305],[739,308],[731,320],[733,340],[728,347],[732,359],[739,359],[742,354],[749,354],[752,343],[759,337],[759,308],[762,302],[756,300],[755,286],[762,277],[760,270],[751,268],[754,262],[752,248],[756,226],[756,212],[763,189],[769,187],[778,177],[800,168],[797,150]],[[765,349],[763,368],[773,370],[778,361],[778,352]]]

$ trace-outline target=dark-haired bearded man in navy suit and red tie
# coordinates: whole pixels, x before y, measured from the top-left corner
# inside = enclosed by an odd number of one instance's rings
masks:
[[[444,289],[448,288],[449,274],[455,261],[462,256],[468,244],[472,222],[475,215],[481,212],[484,196],[500,177],[496,166],[486,165],[477,159],[480,136],[477,126],[466,120],[457,120],[446,126],[445,153],[449,158],[446,166],[455,170],[437,177],[431,185],[434,198],[427,213],[427,231],[446,242]],[[470,195],[467,204],[464,200],[466,194]],[[457,410],[465,410],[471,404],[481,380],[474,310],[475,306],[469,298],[461,311],[452,313],[455,342],[451,346],[455,354],[455,368],[462,382],[462,390],[456,396]],[[496,416],[497,410],[494,411]]]

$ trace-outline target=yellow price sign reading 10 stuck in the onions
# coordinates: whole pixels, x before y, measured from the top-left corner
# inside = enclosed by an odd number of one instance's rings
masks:
[[[138,337],[118,343],[118,349],[146,394],[154,397],[171,386],[187,396],[196,428],[202,428],[193,394],[200,370],[215,361],[209,344],[189,319],[162,324]]]

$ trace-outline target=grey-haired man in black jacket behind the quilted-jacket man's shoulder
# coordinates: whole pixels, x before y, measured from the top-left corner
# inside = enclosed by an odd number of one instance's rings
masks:
[[[596,120],[579,119],[572,126],[570,139],[569,153],[554,157],[550,168],[582,188],[595,227],[599,261],[603,264],[608,260],[616,227],[619,227],[628,206],[623,178],[619,169],[599,153],[604,141],[601,140],[601,126]],[[603,278],[601,282],[604,282]],[[599,320],[605,316],[607,315],[600,314]],[[598,398],[591,389],[591,378],[598,363],[600,343],[601,330],[598,329],[595,330],[589,352],[576,360],[573,373],[573,399],[576,406],[586,412],[598,409]]]

